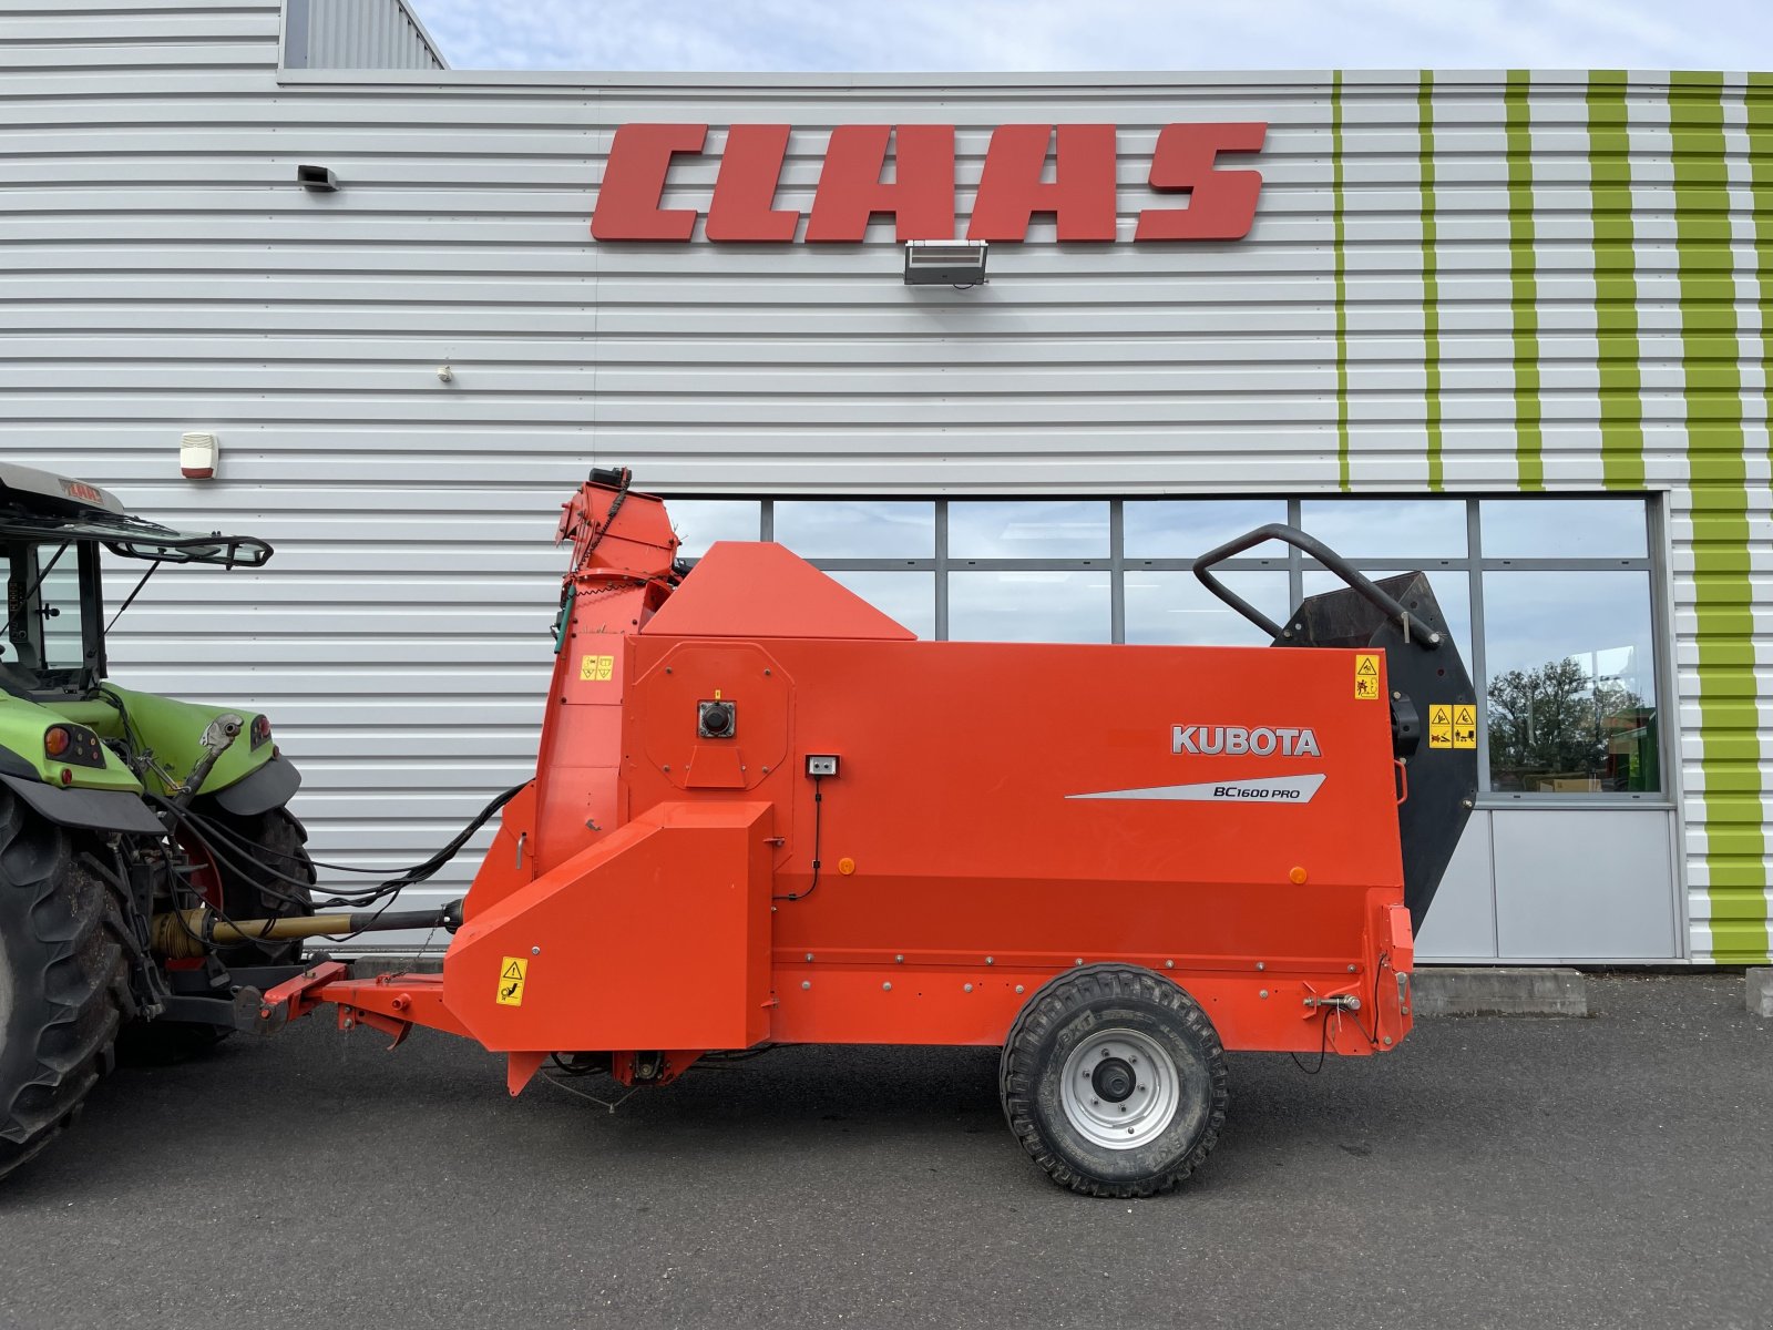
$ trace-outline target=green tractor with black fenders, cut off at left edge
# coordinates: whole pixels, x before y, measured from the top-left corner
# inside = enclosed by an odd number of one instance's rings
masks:
[[[300,974],[319,927],[287,809],[301,778],[264,715],[106,677],[105,550],[145,560],[142,582],[271,557],[0,463],[0,1176],[73,1119],[119,1050],[176,1057],[245,1025],[239,1009]]]

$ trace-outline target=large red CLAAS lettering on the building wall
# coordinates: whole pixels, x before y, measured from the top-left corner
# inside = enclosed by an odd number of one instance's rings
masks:
[[[734,124],[707,202],[704,234],[716,243],[787,245],[801,213],[777,207],[793,128]],[[1186,195],[1179,206],[1145,207],[1135,241],[1243,239],[1255,223],[1262,174],[1222,168],[1229,153],[1261,153],[1266,122],[1167,124],[1158,133],[1149,183]],[[599,241],[686,241],[695,207],[665,207],[672,163],[702,156],[706,124],[624,124],[603,168],[590,234]],[[1112,124],[1005,124],[991,133],[968,239],[1016,243],[1035,216],[1053,218],[1060,241],[1117,239],[1117,131]],[[888,161],[892,163],[888,176]],[[1051,163],[1051,172],[1048,172]],[[1050,176],[1050,177],[1048,177]],[[952,124],[844,124],[826,142],[805,239],[858,243],[869,223],[890,216],[899,239],[956,234]]]

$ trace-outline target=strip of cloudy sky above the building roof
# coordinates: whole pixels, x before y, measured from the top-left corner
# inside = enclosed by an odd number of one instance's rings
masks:
[[[1773,0],[408,0],[457,69],[1769,69]]]

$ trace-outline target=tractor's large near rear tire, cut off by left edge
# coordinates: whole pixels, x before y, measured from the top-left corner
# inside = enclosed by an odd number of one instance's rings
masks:
[[[74,1121],[135,1014],[124,906],[80,848],[0,789],[0,1177]]]

